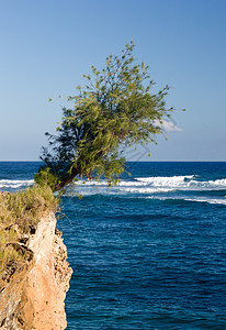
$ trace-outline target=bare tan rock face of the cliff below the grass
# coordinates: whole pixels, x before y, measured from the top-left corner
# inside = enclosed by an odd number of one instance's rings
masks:
[[[38,222],[26,245],[32,260],[0,292],[0,329],[65,329],[64,300],[72,270],[54,215]]]

